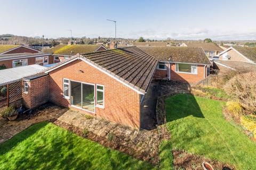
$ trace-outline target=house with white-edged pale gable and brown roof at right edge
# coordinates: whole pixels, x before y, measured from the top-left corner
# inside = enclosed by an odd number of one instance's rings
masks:
[[[256,63],[256,47],[229,47],[219,55],[221,61]]]

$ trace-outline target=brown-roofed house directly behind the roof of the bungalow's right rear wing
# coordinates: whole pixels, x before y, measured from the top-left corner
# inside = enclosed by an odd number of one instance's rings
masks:
[[[216,56],[223,51],[214,43],[182,43],[181,47],[202,47],[207,57]]]

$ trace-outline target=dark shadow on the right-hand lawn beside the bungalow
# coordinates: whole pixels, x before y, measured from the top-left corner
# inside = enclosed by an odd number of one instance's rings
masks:
[[[165,99],[166,121],[171,122],[187,116],[204,115],[195,97],[191,94],[178,94]]]

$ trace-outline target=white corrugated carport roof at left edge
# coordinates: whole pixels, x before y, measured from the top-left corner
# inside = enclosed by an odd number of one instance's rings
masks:
[[[21,67],[15,67],[12,69],[4,69],[0,70],[0,86],[4,86],[6,84],[10,84],[16,81],[21,80],[24,77],[29,75],[35,75],[40,72],[43,72],[46,67],[41,65],[27,65]]]

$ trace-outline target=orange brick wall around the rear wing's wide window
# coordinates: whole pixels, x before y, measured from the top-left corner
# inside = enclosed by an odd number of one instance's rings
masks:
[[[175,63],[171,64],[171,80],[196,83],[204,79],[204,74],[207,74],[206,68],[204,65],[197,65],[197,74],[189,73],[177,73],[175,72]],[[205,70],[205,71],[204,71]]]

